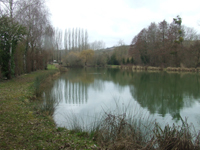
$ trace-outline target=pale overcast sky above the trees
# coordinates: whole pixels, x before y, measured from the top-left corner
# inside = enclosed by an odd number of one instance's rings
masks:
[[[151,22],[171,23],[179,15],[182,24],[200,33],[200,0],[48,0],[54,27],[85,28],[89,42],[103,40],[106,47],[132,38]]]

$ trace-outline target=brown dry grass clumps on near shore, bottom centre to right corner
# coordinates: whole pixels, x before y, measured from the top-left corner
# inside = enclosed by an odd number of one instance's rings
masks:
[[[156,122],[129,122],[125,114],[107,114],[96,133],[102,148],[110,150],[199,150],[200,132],[191,130],[184,121],[182,126],[166,125],[162,129]],[[136,124],[137,123],[137,124]]]

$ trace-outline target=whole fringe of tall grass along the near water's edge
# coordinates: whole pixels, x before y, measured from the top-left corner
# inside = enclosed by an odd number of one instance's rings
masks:
[[[89,124],[72,113],[66,117],[68,127],[79,134],[85,135],[87,131],[88,136],[107,149],[200,149],[200,133],[192,130],[193,126],[189,126],[187,120],[182,120],[182,126],[161,128],[155,120],[134,110],[134,106],[120,106],[119,102],[115,105],[115,109],[102,108]]]

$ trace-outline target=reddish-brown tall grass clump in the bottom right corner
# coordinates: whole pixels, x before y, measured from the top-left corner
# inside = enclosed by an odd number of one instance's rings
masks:
[[[159,148],[171,150],[195,150],[200,149],[200,137],[194,126],[182,120],[182,126],[166,125],[164,129],[155,123],[153,130],[155,141]]]

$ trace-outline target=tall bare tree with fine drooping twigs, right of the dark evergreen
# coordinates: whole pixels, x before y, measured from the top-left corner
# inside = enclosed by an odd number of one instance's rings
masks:
[[[37,70],[41,61],[42,45],[46,27],[48,26],[48,11],[43,0],[20,0],[17,19],[27,29],[25,37],[25,61],[28,72]],[[29,51],[30,50],[30,51]],[[28,52],[29,51],[29,52]],[[30,63],[28,62],[30,61]]]

